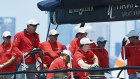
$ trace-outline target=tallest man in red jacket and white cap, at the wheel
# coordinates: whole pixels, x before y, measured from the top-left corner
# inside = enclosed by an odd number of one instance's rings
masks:
[[[39,23],[36,20],[30,19],[27,23],[27,28],[16,33],[14,36],[13,52],[18,54],[17,60],[20,60],[23,54],[27,55],[32,50],[39,48],[40,39],[39,35],[35,32],[38,25]],[[36,55],[34,54],[33,57],[26,57],[25,63],[29,71],[36,70]],[[17,79],[24,78],[22,76],[17,77],[20,77]],[[33,73],[28,73],[27,79],[35,79],[35,75]]]

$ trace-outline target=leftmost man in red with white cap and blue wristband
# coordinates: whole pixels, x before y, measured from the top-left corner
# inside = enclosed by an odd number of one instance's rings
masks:
[[[16,54],[12,53],[11,33],[5,31],[3,33],[4,42],[0,44],[0,72],[14,72]],[[12,79],[11,75],[4,75],[5,79]],[[2,75],[0,76],[2,78]]]

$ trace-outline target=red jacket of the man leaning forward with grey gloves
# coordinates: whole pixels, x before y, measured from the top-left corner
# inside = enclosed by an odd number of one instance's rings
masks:
[[[81,52],[80,52],[81,51]],[[80,49],[77,50],[74,54],[74,58],[73,58],[73,68],[75,69],[82,69],[79,65],[78,65],[78,61],[79,60],[83,60],[85,63],[87,64],[93,64],[94,63],[94,54],[91,50],[89,50],[87,53],[85,53],[83,50]],[[86,79],[86,76],[88,75],[88,73],[85,72],[74,72],[75,76],[79,76],[80,79]]]

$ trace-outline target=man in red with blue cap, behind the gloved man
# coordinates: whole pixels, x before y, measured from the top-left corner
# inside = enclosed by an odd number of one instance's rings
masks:
[[[109,56],[105,49],[107,40],[104,37],[97,38],[97,47],[94,49],[94,54],[98,57],[99,66],[103,68],[109,68]]]

